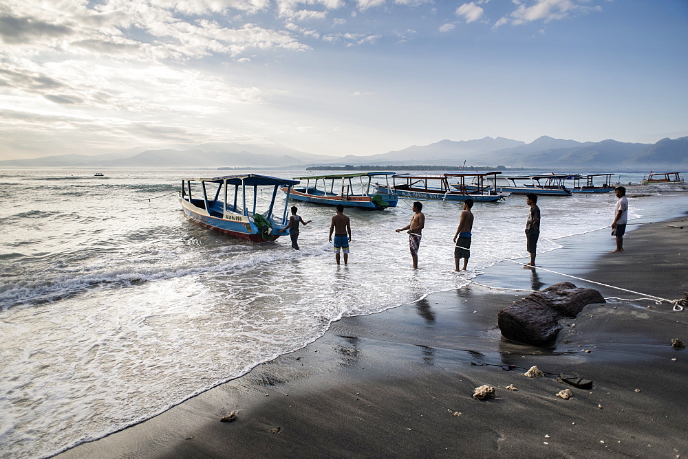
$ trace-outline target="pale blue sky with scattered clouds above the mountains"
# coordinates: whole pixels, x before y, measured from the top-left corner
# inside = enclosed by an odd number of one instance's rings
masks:
[[[2,0],[0,159],[688,135],[688,0]]]

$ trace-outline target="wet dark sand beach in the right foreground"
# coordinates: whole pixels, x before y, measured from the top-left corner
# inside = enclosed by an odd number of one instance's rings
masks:
[[[537,265],[675,300],[688,291],[688,222],[655,223],[610,254],[608,230],[559,241]],[[430,260],[423,260],[420,268]],[[470,265],[469,265],[470,267]],[[447,266],[447,269],[452,269]],[[501,262],[475,281],[542,289],[561,281]],[[404,288],[389,285],[389,288]],[[171,410],[58,458],[688,457],[688,311],[610,300],[563,322],[550,348],[502,339],[497,312],[528,291],[471,284],[363,317]],[[651,307],[647,307],[647,306]],[[590,351],[590,352],[587,352]],[[515,365],[506,371],[502,366]],[[546,377],[527,378],[538,366]],[[590,390],[557,383],[592,379]],[[473,399],[480,385],[496,398]],[[517,390],[506,390],[513,385]],[[569,388],[572,399],[555,396]],[[229,412],[236,420],[219,421]]]

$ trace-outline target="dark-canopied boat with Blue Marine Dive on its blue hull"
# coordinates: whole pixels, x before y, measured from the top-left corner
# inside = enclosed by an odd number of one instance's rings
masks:
[[[464,173],[457,172],[451,174],[430,174],[430,175],[409,175],[396,174],[392,176],[391,187],[378,186],[377,190],[381,193],[396,193],[403,199],[417,199],[418,201],[473,201],[494,202],[504,199],[504,194],[499,194],[495,190],[490,190],[488,186],[482,188],[469,189],[466,186],[466,179],[471,177],[496,177],[502,172],[484,173]],[[458,179],[455,185],[449,185],[449,180]],[[399,181],[400,183],[397,183]],[[506,194],[508,195],[508,194]]]

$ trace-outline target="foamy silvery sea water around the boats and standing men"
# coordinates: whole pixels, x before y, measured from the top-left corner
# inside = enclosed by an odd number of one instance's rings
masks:
[[[0,171],[2,456],[41,458],[116,432],[305,346],[345,315],[462,287],[499,260],[527,255],[522,196],[475,203],[469,271],[458,274],[457,204],[424,203],[417,271],[408,236],[394,232],[409,223],[410,201],[347,210],[350,263],[338,267],[327,242],[332,208],[295,203],[313,221],[301,229],[301,251],[288,237],[253,245],[180,210],[181,179],[225,171],[104,173]],[[641,194],[630,198],[635,221],[685,210],[656,188]],[[612,193],[540,197],[539,251],[608,227],[615,201]]]

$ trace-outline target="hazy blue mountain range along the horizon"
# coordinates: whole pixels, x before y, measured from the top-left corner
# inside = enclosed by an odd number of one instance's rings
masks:
[[[292,150],[276,142],[213,142],[184,150],[108,155],[59,155],[0,161],[0,168],[286,168],[294,166],[403,166],[408,164],[508,166],[556,170],[688,170],[688,137],[656,144],[539,137],[530,144],[504,137],[441,140],[369,156],[332,157]]]

